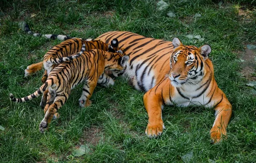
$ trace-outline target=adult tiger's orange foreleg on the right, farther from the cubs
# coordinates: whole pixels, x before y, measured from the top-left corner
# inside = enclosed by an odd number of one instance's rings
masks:
[[[210,131],[212,143],[218,143],[227,134],[227,124],[232,114],[232,106],[224,95],[221,103],[215,106],[215,121]]]

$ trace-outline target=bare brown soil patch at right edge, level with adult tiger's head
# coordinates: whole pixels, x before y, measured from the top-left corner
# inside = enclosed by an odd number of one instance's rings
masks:
[[[256,81],[256,50],[245,49],[241,59],[241,74],[250,81]]]

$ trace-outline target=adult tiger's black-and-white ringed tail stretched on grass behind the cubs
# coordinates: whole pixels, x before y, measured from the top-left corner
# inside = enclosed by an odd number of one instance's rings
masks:
[[[61,40],[61,41],[64,41],[64,40],[68,40],[68,39],[71,39],[71,38],[76,38],[76,37],[69,37],[67,35],[61,35],[61,34],[41,34],[41,33],[34,33],[30,30],[29,28],[29,25],[24,22],[24,24],[22,25],[22,29],[27,33],[27,34],[32,34],[34,37],[46,37],[46,38],[49,38],[49,39],[58,39],[58,40]],[[93,39],[83,39],[83,38],[80,38],[82,40],[86,40],[86,41],[90,41],[90,40],[93,40]]]

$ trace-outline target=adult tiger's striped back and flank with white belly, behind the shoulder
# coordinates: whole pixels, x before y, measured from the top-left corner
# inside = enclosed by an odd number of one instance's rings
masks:
[[[130,56],[125,76],[130,85],[141,91],[148,91],[159,83],[170,71],[169,59],[173,52],[170,41],[148,38],[128,31],[111,31],[97,37],[108,43],[119,40],[119,48]],[[130,39],[132,38],[132,39]]]

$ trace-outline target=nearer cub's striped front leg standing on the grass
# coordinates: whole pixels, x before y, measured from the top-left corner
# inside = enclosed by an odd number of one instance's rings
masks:
[[[79,105],[81,107],[87,107],[90,106],[92,101],[90,100],[90,97],[93,94],[93,90],[96,87],[97,82],[96,81],[87,81],[84,83],[83,86],[83,93],[79,99]]]

